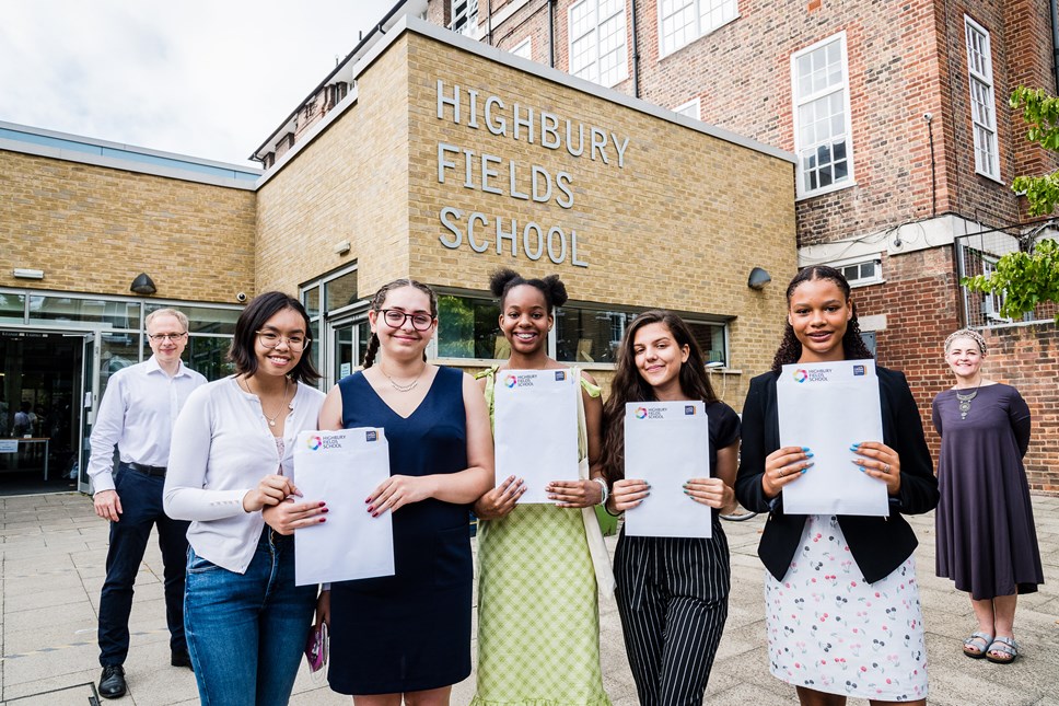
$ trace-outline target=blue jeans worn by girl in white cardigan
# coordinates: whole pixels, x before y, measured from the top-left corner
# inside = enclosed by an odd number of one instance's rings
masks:
[[[187,553],[184,626],[203,706],[290,701],[316,606],[294,586],[294,537],[268,526],[245,574]]]

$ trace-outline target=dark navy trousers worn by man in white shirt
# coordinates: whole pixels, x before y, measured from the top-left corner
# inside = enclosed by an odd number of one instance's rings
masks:
[[[165,622],[170,649],[185,649],[184,563],[188,522],[173,520],[162,511],[165,478],[143,475],[126,464],[118,466],[114,489],[121,501],[118,522],[110,523],[106,555],[106,580],[100,595],[100,664],[124,664],[129,653],[129,613],[132,585],[143,560],[151,528],[158,525],[165,588]]]

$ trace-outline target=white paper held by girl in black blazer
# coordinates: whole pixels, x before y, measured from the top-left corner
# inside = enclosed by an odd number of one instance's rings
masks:
[[[850,447],[883,440],[874,360],[783,366],[776,383],[780,444],[806,447],[813,466],[783,487],[792,514],[886,517],[886,484],[861,473]]]

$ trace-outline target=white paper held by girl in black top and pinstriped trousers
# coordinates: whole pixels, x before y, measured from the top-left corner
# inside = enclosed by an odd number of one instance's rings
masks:
[[[651,491],[625,513],[629,536],[712,535],[711,508],[684,493],[710,476],[710,423],[701,402],[630,402],[625,406],[625,477]]]

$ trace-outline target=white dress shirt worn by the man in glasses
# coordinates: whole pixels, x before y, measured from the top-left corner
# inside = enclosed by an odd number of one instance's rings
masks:
[[[183,361],[170,378],[154,356],[114,373],[92,426],[89,477],[94,491],[114,489],[115,443],[124,463],[164,466],[176,417],[191,391],[203,384],[206,378]]]

